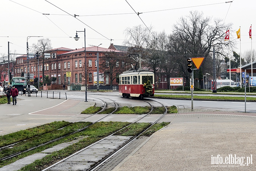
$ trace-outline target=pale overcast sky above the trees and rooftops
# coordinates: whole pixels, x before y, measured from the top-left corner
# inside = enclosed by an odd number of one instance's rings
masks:
[[[248,32],[252,25],[252,48],[254,49],[256,46],[254,1],[225,2],[223,0],[1,0],[0,53],[8,54],[9,41],[11,52],[16,50],[18,54],[26,54],[28,36],[49,38],[53,48],[82,48],[84,32],[78,33],[80,37],[78,41],[73,37],[76,31],[83,31],[84,28],[86,29],[86,47],[98,46],[101,43],[100,47],[103,48],[108,48],[110,43],[122,45],[125,40],[124,30],[127,27],[144,26],[144,22],[148,27],[152,25],[153,31],[165,30],[170,34],[172,26],[181,16],[189,15],[189,11],[195,10],[202,11],[205,17],[220,18],[225,20],[225,23],[233,23],[230,29],[234,31],[241,26],[242,54],[244,51],[251,50]],[[139,16],[143,22],[135,11],[142,13]],[[75,18],[66,12],[79,16]],[[43,15],[43,13],[50,15]],[[231,40],[237,38],[235,32],[230,34]],[[32,46],[38,39],[38,37],[28,38],[28,45]],[[239,54],[240,44],[239,41],[237,42],[236,52]]]

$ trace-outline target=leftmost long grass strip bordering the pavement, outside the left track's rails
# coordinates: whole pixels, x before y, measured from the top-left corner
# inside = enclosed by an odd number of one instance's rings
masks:
[[[51,131],[65,127],[69,124],[71,123],[66,121],[54,121],[52,123],[47,123],[44,125],[40,125],[38,127],[29,128],[15,133],[3,135],[0,136],[0,147],[14,144],[45,133],[49,133]]]

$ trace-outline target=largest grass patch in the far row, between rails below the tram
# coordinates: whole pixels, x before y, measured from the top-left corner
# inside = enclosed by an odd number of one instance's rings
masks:
[[[141,107],[141,106],[135,106],[135,107],[118,107],[118,109],[114,112],[114,114],[144,114],[150,112],[151,107]]]

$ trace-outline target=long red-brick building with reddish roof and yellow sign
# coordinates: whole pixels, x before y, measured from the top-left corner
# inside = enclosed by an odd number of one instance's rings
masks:
[[[106,52],[123,52],[112,48],[101,48],[97,46],[86,47],[86,60],[87,60],[87,84],[93,85],[93,73],[97,72],[97,52],[99,53],[99,60]],[[49,78],[56,77],[57,84],[72,84],[80,83],[85,84],[84,79],[84,48],[69,49],[69,48],[55,48],[49,50],[50,58],[45,58],[44,66],[42,60],[39,60],[39,77],[43,81],[44,76]],[[42,58],[42,57],[40,57]],[[34,78],[38,77],[38,59],[36,57],[29,59],[29,66],[27,63],[27,56],[22,55],[16,58],[16,66],[14,76],[21,76],[21,73],[34,74]],[[70,74],[71,73],[71,74]],[[70,75],[69,75],[70,74]],[[104,83],[108,85],[108,76],[104,76]]]

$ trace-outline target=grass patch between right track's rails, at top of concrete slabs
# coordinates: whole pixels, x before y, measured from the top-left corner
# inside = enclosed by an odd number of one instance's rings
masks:
[[[124,129],[115,133],[115,135],[121,136],[136,136],[139,135],[142,131],[147,129],[151,124],[150,123],[133,123]]]

